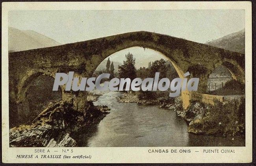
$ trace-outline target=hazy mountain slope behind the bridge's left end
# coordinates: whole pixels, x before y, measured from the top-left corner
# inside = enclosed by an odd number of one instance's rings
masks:
[[[21,31],[16,28],[9,27],[8,33],[9,52],[61,45],[59,42],[35,31]]]

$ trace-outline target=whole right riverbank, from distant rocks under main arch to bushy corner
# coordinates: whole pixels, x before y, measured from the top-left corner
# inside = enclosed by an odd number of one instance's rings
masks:
[[[186,110],[182,107],[180,97],[173,100],[165,98],[139,100],[135,93],[124,93],[117,100],[126,103],[158,105],[160,108],[176,111],[177,116],[186,120],[189,133],[216,136],[245,135],[245,100],[243,97],[232,98],[225,103],[216,101],[214,106],[192,102]]]

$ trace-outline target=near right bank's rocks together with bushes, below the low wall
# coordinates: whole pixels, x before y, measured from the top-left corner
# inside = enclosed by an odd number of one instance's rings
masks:
[[[237,98],[214,106],[191,103],[177,112],[189,123],[188,132],[217,136],[245,136],[245,99]]]

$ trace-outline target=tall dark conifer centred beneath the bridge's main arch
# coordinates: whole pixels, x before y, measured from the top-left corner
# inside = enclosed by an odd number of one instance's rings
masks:
[[[118,67],[119,77],[132,80],[136,78],[135,58],[130,52],[125,57],[126,61],[124,61],[124,64]]]

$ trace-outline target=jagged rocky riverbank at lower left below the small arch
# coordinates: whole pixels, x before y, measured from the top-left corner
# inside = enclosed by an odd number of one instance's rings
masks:
[[[9,130],[10,147],[74,147],[81,129],[95,125],[109,113],[107,106],[94,106],[92,102],[84,112],[59,101],[50,103],[30,125],[19,125]]]

